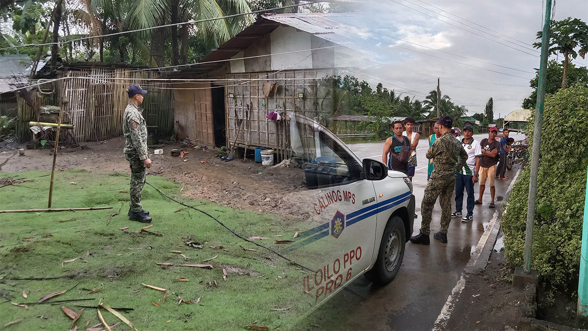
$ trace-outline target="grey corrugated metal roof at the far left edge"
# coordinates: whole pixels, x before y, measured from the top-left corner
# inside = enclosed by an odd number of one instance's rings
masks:
[[[32,61],[28,55],[0,55],[0,93],[26,84],[31,67]]]

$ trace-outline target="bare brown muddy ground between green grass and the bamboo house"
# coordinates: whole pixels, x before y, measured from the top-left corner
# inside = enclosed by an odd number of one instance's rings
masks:
[[[100,143],[83,143],[81,150],[60,150],[55,169],[130,173],[129,163],[122,153],[124,144],[124,138],[119,137]],[[153,165],[147,170],[148,176],[163,176],[183,184],[182,194],[186,197],[295,219],[308,219],[310,215],[308,204],[303,202],[306,199],[293,198],[306,190],[304,173],[299,168],[264,167],[252,157],[244,162],[242,158],[225,162],[216,157],[217,150],[196,150],[193,145],[181,143],[158,146],[163,149],[163,155],[151,155]],[[18,147],[25,148],[24,144],[0,144],[0,171],[51,170],[52,149],[26,150],[21,156],[16,150]],[[170,151],[174,148],[182,148],[188,154],[183,158],[172,157]],[[154,149],[150,147],[149,154],[153,154]]]

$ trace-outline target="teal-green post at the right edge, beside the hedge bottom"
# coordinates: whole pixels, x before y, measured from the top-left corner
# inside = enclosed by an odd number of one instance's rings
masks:
[[[578,282],[578,326],[588,322],[588,174],[586,174],[586,198],[584,198],[584,224],[582,249],[580,249],[580,279]]]

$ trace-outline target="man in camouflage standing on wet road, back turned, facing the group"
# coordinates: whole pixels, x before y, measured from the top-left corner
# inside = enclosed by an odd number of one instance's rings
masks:
[[[425,196],[420,207],[422,222],[420,233],[410,237],[414,244],[430,243],[430,225],[432,219],[433,205],[440,196],[441,203],[441,230],[433,235],[433,238],[447,243],[447,229],[451,221],[451,194],[455,187],[457,169],[461,169],[467,161],[467,153],[462,144],[450,133],[453,120],[449,116],[443,116],[437,124],[440,124],[441,137],[429,147],[426,157],[433,160],[435,168],[425,188]]]

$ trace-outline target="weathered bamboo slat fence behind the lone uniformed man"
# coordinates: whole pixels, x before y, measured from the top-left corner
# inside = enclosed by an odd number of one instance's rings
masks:
[[[126,88],[139,84],[147,90],[143,104],[143,117],[150,128],[149,134],[171,137],[173,133],[173,93],[171,87],[159,78],[157,72],[129,69],[92,68],[61,71],[56,82],[56,93],[40,97],[34,92],[40,105],[61,105],[64,97],[64,117],[75,125],[74,136],[78,142],[102,141],[122,135],[122,115],[128,104]],[[85,77],[85,78],[84,78]],[[92,77],[88,79],[87,77]],[[111,78],[133,78],[115,80]],[[19,99],[19,138],[30,139],[28,121],[34,120],[34,112],[24,100]]]

